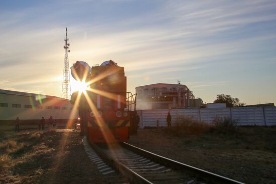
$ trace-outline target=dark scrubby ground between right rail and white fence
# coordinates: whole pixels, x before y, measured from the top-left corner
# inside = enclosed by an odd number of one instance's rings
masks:
[[[176,136],[168,128],[139,129],[129,143],[245,183],[276,183],[276,127]]]

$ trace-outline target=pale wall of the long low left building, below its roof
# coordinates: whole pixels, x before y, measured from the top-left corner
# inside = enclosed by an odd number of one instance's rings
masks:
[[[72,114],[73,105],[70,101],[60,98],[36,99],[28,96],[0,94],[0,103],[8,103],[8,107],[0,107],[0,120],[15,120],[17,117],[21,120],[35,120],[41,119],[42,116],[48,119],[51,115],[54,119],[69,119],[70,115],[71,119],[78,118],[78,111]],[[21,107],[15,108],[12,104],[20,104]],[[25,108],[25,105],[29,107],[31,105],[32,108]]]

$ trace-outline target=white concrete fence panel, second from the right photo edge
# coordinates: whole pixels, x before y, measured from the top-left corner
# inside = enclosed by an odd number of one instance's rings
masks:
[[[236,120],[238,125],[265,125],[262,107],[235,107],[231,110],[232,120]]]

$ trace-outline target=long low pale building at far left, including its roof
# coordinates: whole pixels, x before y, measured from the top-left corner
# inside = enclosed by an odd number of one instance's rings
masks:
[[[67,123],[69,118],[78,118],[78,110],[74,113],[72,110],[70,100],[64,98],[0,89],[0,125],[11,123],[17,117],[33,124],[42,116],[45,119],[53,116],[57,123]]]

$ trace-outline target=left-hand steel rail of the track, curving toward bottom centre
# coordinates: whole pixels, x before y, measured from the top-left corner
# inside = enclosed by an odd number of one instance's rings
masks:
[[[119,160],[110,156],[108,153],[106,153],[104,150],[102,150],[95,143],[91,143],[90,145],[94,149],[94,151],[98,154],[98,156],[101,157],[101,159],[103,161],[105,161],[105,163],[107,163],[113,169],[119,171],[124,176],[126,176],[130,180],[130,183],[153,184],[151,181],[147,180],[146,178],[142,177],[141,175],[139,175],[136,172],[129,169],[127,166],[125,166]]]

